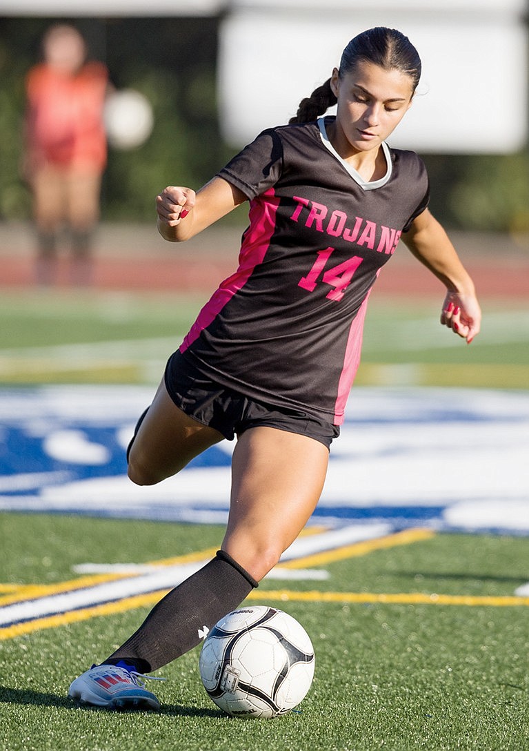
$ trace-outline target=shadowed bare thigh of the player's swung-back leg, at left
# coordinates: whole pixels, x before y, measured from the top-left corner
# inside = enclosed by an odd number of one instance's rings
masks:
[[[131,446],[128,475],[136,484],[155,484],[223,439],[218,430],[182,412],[162,381]]]

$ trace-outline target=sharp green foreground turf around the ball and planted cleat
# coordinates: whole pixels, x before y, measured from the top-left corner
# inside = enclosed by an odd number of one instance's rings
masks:
[[[2,514],[2,599],[76,578],[80,563],[151,562],[215,546],[218,526]],[[20,554],[21,547],[23,554]],[[80,710],[70,681],[103,659],[147,608],[0,641],[5,751],[523,751],[529,743],[529,539],[431,535],[320,561],[326,581],[264,581],[252,602],[311,635],[317,667],[299,711],[224,716],[200,683],[199,650],[160,671],[160,713]],[[284,583],[283,583],[284,584]],[[35,596],[35,590],[33,590]],[[462,599],[461,599],[462,598]],[[413,600],[424,604],[412,604]],[[464,602],[464,604],[461,604]],[[151,687],[151,686],[149,686]]]

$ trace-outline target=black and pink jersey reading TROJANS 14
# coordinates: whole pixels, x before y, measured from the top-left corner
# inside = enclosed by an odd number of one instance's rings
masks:
[[[386,176],[363,182],[325,122],[263,131],[218,173],[248,196],[249,226],[180,351],[220,385],[339,425],[369,292],[428,205],[428,177],[383,144]]]

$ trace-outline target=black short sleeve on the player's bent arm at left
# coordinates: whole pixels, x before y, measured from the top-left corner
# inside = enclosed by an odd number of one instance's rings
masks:
[[[251,200],[278,181],[282,168],[281,139],[275,130],[269,129],[234,156],[218,176],[235,185]]]

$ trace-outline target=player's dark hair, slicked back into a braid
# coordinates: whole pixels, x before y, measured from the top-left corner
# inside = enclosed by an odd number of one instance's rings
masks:
[[[340,77],[352,71],[361,60],[379,65],[386,71],[397,70],[407,74],[415,92],[421,77],[421,59],[410,40],[397,29],[377,26],[351,39],[341,55]],[[326,113],[333,104],[336,104],[336,97],[328,78],[322,86],[314,89],[310,97],[302,99],[296,116],[290,118],[289,122],[311,122]]]

